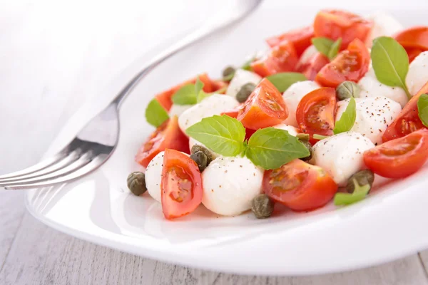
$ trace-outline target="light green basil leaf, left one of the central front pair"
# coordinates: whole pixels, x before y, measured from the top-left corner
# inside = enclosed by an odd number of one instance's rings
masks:
[[[213,115],[190,126],[185,133],[223,156],[239,155],[244,150],[245,128],[228,115]]]

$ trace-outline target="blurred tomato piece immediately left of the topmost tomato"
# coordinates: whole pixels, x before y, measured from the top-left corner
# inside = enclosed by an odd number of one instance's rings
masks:
[[[278,46],[282,41],[290,41],[296,49],[297,56],[300,56],[305,49],[312,43],[310,39],[314,37],[314,28],[307,26],[305,28],[297,28],[287,33],[282,33],[280,36],[272,36],[266,39],[267,44],[273,48]]]

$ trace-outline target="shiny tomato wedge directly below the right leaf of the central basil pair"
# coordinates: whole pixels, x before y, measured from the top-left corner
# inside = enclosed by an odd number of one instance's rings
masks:
[[[337,184],[321,167],[292,160],[265,171],[263,191],[294,211],[309,211],[327,204],[335,196]]]

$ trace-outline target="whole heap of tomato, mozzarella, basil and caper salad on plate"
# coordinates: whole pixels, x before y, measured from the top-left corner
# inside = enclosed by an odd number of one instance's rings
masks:
[[[200,204],[257,218],[275,204],[352,204],[375,175],[407,177],[427,161],[428,26],[322,10],[266,42],[222,78],[200,73],[148,104],[156,130],[136,155],[146,172],[128,187],[166,219]]]

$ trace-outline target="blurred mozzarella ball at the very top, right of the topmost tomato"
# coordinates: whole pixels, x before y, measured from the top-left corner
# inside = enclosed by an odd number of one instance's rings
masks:
[[[378,12],[367,17],[373,21],[373,27],[367,36],[366,46],[371,47],[374,38],[379,36],[392,36],[394,33],[402,31],[404,26],[392,15]]]

